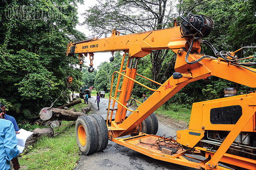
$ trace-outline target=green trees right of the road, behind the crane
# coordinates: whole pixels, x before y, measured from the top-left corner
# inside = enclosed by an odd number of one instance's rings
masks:
[[[168,0],[162,0],[160,5],[143,0],[120,0],[118,2],[116,6],[114,2],[110,3],[105,0],[101,1],[100,5],[91,7],[84,13],[84,24],[89,25],[93,30],[102,32],[110,31],[112,27],[116,27],[121,33],[128,34],[173,27],[173,18],[180,19],[178,16],[192,12],[213,18],[215,28],[205,39],[210,41],[218,50],[235,51],[244,46],[256,46],[256,2],[254,0],[180,0],[176,6]],[[176,12],[173,10],[174,6]],[[135,10],[143,11],[143,14],[134,15]],[[115,18],[124,19],[116,20]],[[204,45],[202,45],[202,51],[212,55],[211,50]],[[255,49],[237,53],[239,57],[253,54],[256,54]],[[110,90],[109,78],[112,77],[114,70],[118,70],[118,63],[121,63],[121,55],[119,53],[116,55],[119,57],[115,57],[113,63],[101,63],[95,77],[90,77],[92,80],[95,79],[94,86],[97,90]],[[139,60],[138,73],[163,83],[172,76],[175,59],[176,55],[170,50],[153,51],[150,55]],[[255,61],[255,59],[250,61]],[[149,87],[158,87],[141,77],[136,77],[136,80]],[[210,81],[199,80],[188,84],[166,104],[192,104],[220,98],[224,96],[226,87],[236,87],[238,93],[246,93],[250,90],[249,87],[218,77],[211,77]],[[132,92],[134,97],[142,97],[142,93],[150,95],[151,91],[135,83]]]

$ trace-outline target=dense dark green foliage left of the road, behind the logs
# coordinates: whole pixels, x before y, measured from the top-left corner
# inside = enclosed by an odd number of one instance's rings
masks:
[[[67,88],[66,76],[73,76],[71,90],[80,87],[81,73],[76,69],[77,57],[66,57],[71,40],[83,40],[83,33],[75,30],[78,20],[73,15],[81,0],[45,1],[23,0],[0,3],[0,98],[11,104],[8,114],[24,118],[38,115],[42,107],[51,103]],[[51,12],[51,19],[8,19],[9,7],[34,7],[35,12]],[[62,6],[62,8],[59,8]],[[56,18],[59,16],[60,19]],[[67,102],[66,91],[55,103]]]

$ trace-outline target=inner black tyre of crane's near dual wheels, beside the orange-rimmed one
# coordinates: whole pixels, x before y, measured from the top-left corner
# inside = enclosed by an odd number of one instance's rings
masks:
[[[92,114],[90,117],[93,118],[93,122],[97,129],[98,135],[98,146],[96,152],[106,149],[108,143],[108,131],[107,124],[104,118],[98,114]]]

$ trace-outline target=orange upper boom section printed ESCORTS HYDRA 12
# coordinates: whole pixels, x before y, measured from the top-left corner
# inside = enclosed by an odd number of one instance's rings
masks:
[[[95,53],[108,51],[126,51],[129,56],[144,57],[151,50],[182,48],[187,42],[181,37],[180,27],[172,27],[162,30],[147,31],[119,36],[112,31],[111,37],[102,39],[90,39],[78,43],[69,43],[67,55],[74,53]],[[173,46],[173,44],[175,44]]]

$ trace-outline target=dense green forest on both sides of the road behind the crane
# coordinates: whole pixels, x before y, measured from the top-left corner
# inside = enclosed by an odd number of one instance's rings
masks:
[[[66,76],[73,76],[70,91],[82,85],[96,90],[110,90],[112,73],[120,67],[121,53],[113,62],[101,63],[97,70],[82,72],[76,67],[77,56],[66,57],[66,45],[71,40],[84,40],[86,35],[75,29],[78,24],[77,4],[83,0],[4,0],[0,2],[0,103],[8,113],[21,118],[38,115],[42,107],[51,103],[67,88]],[[85,2],[86,3],[86,2]],[[36,6],[35,10],[49,13],[51,19],[8,18],[8,6]],[[63,8],[59,8],[62,6]],[[204,14],[213,18],[215,28],[206,40],[218,50],[234,51],[243,46],[256,46],[255,0],[102,0],[83,13],[84,25],[95,33],[109,33],[116,28],[121,34],[173,27],[173,19],[180,15]],[[140,11],[137,13],[136,11]],[[57,18],[61,17],[62,19]],[[75,17],[74,17],[75,16]],[[64,18],[64,19],[63,19]],[[212,55],[202,46],[203,53]],[[255,54],[244,50],[239,57]],[[174,72],[176,55],[170,50],[156,50],[139,60],[138,73],[163,83]],[[254,59],[250,59],[251,61]],[[254,60],[255,61],[255,60]],[[141,83],[157,87],[140,77]],[[168,103],[193,103],[224,96],[225,87],[236,87],[239,93],[249,90],[240,84],[211,77],[187,85]],[[69,92],[62,95],[55,106],[68,102]],[[150,91],[135,85],[134,97]]]

